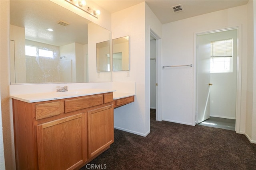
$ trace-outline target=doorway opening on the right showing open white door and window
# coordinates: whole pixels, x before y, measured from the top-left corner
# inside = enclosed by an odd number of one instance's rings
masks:
[[[196,36],[196,124],[198,125],[235,130],[237,40],[238,29],[213,31]]]

